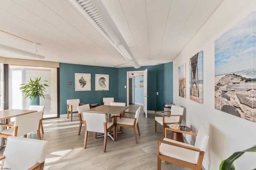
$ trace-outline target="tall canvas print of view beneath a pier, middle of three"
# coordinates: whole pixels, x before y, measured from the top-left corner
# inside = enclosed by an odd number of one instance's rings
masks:
[[[189,60],[189,94],[190,100],[203,103],[203,51]]]

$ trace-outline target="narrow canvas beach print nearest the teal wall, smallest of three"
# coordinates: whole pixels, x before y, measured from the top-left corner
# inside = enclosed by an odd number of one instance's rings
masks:
[[[186,98],[186,64],[179,66],[179,96]]]

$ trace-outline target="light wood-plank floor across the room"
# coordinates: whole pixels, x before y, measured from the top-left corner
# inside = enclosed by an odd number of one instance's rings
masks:
[[[130,111],[136,111],[138,105],[130,105]],[[129,115],[129,114],[127,114]],[[130,114],[134,116],[133,114]],[[124,128],[118,134],[118,140],[108,137],[106,152],[103,152],[103,137],[94,139],[88,133],[86,149],[84,149],[84,126],[78,136],[79,119],[58,118],[44,120],[42,140],[49,141],[44,170],[156,170],[157,139],[162,139],[162,126],[158,124],[154,132],[154,114],[145,118],[143,108],[139,118],[141,135],[135,143],[131,128]],[[36,133],[28,137],[37,139]],[[4,148],[0,150],[2,155]],[[188,170],[172,163],[164,164],[162,170]]]

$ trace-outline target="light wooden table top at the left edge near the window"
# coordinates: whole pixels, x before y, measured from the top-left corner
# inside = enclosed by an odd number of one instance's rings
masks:
[[[29,113],[37,112],[37,110],[24,110],[24,109],[6,109],[0,111],[0,120],[9,119]]]

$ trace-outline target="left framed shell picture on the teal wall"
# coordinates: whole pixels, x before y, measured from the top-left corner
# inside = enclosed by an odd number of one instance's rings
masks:
[[[75,73],[75,91],[91,90],[91,74]]]

